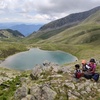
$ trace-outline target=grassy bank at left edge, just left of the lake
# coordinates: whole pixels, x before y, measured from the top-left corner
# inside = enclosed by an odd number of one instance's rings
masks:
[[[26,45],[22,43],[0,42],[0,59],[3,60],[10,55],[25,50],[27,50]]]

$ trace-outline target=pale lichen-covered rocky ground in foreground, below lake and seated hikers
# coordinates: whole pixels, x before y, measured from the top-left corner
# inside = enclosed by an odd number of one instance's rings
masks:
[[[72,77],[73,65],[60,67],[49,62],[37,65],[33,76],[21,78],[22,86],[15,91],[14,100],[97,100],[100,81]],[[37,77],[34,79],[32,77]],[[99,100],[99,99],[98,99]]]

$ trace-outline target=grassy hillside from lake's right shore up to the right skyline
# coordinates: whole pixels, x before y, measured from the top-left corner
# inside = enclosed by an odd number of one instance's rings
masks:
[[[63,50],[69,52],[79,59],[95,57],[99,59],[100,56],[100,13],[97,12],[84,20],[81,24],[58,31],[52,31],[52,34],[41,33],[34,39],[31,37],[31,46],[39,46],[42,49],[49,50]],[[49,35],[48,35],[49,34]],[[51,35],[51,36],[50,36]],[[41,38],[41,36],[46,37]],[[47,36],[50,36],[47,38]],[[37,41],[35,41],[37,39]],[[34,44],[35,41],[35,44]]]

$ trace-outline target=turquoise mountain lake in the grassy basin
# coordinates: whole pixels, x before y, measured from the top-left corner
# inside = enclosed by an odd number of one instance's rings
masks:
[[[0,66],[18,70],[27,70],[32,69],[36,64],[42,65],[46,60],[62,65],[65,63],[74,62],[77,60],[77,58],[62,51],[45,51],[38,48],[33,48],[29,51],[21,52],[8,57],[0,64]]]

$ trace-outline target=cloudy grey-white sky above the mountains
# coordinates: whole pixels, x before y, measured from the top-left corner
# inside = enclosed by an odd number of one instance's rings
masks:
[[[0,0],[0,23],[48,23],[100,6],[100,0]]]

